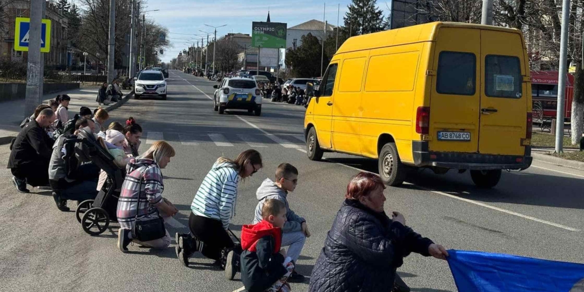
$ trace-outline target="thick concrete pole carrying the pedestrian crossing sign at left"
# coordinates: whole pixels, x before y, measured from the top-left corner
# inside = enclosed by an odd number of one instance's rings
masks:
[[[30,0],[29,64],[26,71],[25,117],[33,113],[43,99],[43,92],[39,88],[40,78],[43,78],[43,67],[40,62],[40,30],[41,18],[43,18],[43,2],[44,0]]]

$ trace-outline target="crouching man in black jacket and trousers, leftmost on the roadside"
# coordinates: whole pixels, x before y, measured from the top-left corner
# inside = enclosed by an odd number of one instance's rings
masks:
[[[31,186],[48,188],[48,162],[51,159],[53,140],[45,128],[55,121],[52,109],[41,110],[36,119],[22,128],[10,152],[8,168],[12,171],[12,182],[20,193],[30,192]]]

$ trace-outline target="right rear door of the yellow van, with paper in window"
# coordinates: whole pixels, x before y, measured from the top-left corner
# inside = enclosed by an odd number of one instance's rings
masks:
[[[481,30],[481,154],[524,155],[528,94],[519,33]]]

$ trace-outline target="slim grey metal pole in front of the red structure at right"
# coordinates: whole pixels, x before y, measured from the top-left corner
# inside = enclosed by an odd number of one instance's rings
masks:
[[[566,55],[568,55],[568,19],[570,0],[562,0],[562,33],[559,43],[558,107],[555,121],[555,152],[562,153],[564,142],[564,110],[566,95]]]

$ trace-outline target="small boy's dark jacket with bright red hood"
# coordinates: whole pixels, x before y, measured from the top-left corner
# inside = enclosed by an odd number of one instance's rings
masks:
[[[287,273],[279,253],[280,228],[266,220],[241,228],[241,281],[248,292],[262,292]]]

